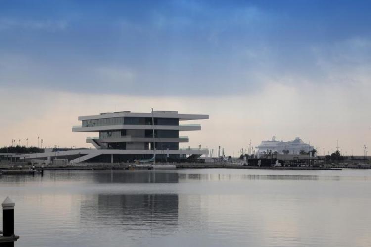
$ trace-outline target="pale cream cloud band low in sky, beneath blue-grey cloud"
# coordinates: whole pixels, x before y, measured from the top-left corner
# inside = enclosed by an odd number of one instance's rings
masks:
[[[131,89],[127,89],[131,92]],[[371,116],[368,92],[371,85],[357,88],[331,85],[303,85],[301,88],[272,82],[254,95],[225,95],[223,97],[189,97],[184,94],[168,96],[123,96],[116,94],[70,93],[47,89],[13,88],[0,90],[2,111],[0,146],[11,139],[43,137],[47,145],[89,147],[85,138],[92,133],[74,133],[73,125],[81,115],[130,110],[149,112],[177,110],[180,113],[209,114],[209,120],[199,123],[201,131],[181,133],[189,136],[187,147],[217,149],[221,145],[227,154],[242,147],[253,146],[261,140],[292,140],[299,136],[319,150],[331,150],[339,140],[341,149],[355,154],[369,146]],[[361,93],[359,92],[361,91]],[[32,137],[32,135],[34,137]],[[35,138],[36,136],[36,138]],[[231,141],[232,140],[232,141]],[[29,142],[31,144],[31,141]],[[182,146],[181,145],[181,146]]]

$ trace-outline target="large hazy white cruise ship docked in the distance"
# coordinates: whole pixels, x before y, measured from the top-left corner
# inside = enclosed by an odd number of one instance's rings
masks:
[[[273,136],[272,140],[262,141],[262,143],[256,147],[257,155],[261,156],[269,152],[277,152],[283,154],[283,150],[288,150],[288,154],[299,154],[301,150],[305,152],[311,151],[314,147],[304,143],[299,137],[296,137],[293,141],[277,141],[276,137]]]

